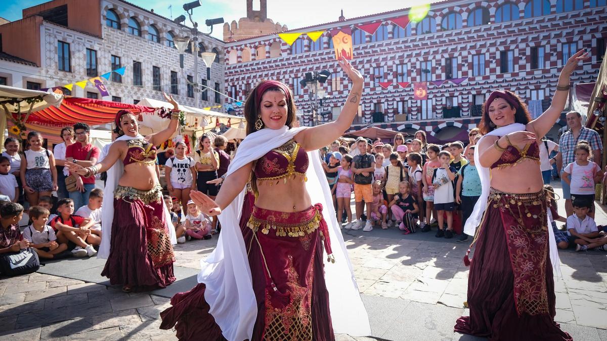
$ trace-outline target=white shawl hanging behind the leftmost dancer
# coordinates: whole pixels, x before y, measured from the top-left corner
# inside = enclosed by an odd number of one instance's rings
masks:
[[[116,141],[128,141],[143,138],[141,135],[137,135],[135,137],[130,137],[127,135],[122,135],[117,138]],[[109,150],[109,148],[108,148]],[[104,156],[105,157],[105,156]],[[99,246],[99,252],[97,252],[98,258],[109,257],[110,255],[110,240],[112,238],[112,221],[114,221],[114,191],[116,187],[118,187],[118,181],[120,181],[120,177],[124,173],[124,164],[122,160],[116,160],[114,165],[107,170],[107,181],[106,188],[104,189],[103,195],[103,209],[101,210],[101,234],[103,238],[101,238],[101,245]],[[164,220],[168,224],[169,235],[171,237],[172,245],[177,244],[177,238],[175,238],[175,228],[173,227],[173,223],[171,221],[171,214],[169,214],[169,209],[164,207]]]

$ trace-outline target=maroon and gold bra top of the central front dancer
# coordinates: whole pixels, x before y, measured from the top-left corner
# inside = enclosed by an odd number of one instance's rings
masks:
[[[305,150],[291,139],[257,160],[253,172],[258,181],[269,181],[270,184],[277,184],[280,180],[287,183],[287,179],[297,177],[301,181],[307,181],[305,172],[308,170],[308,161]]]

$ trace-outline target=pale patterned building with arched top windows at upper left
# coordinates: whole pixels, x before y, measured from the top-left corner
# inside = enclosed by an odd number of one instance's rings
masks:
[[[213,91],[223,93],[225,88],[223,42],[198,35],[201,52],[215,52],[217,58],[209,72],[198,58],[198,81],[213,90],[194,93],[188,83],[194,81],[194,55],[189,49],[181,59],[174,47],[175,37],[190,34],[188,27],[126,1],[46,2],[25,8],[21,20],[0,25],[5,56],[0,56],[0,83],[29,89],[60,87],[126,67],[124,75],[112,73],[104,79],[110,96],[101,98],[91,83],[63,91],[124,103],[162,100],[164,91],[188,106],[195,105],[195,96],[199,107],[223,104],[224,97]]]

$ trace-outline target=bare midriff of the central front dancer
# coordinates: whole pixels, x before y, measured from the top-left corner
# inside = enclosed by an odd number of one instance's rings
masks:
[[[299,212],[312,205],[310,195],[305,188],[305,181],[299,176],[290,177],[287,182],[280,180],[270,184],[269,181],[257,181],[259,195],[255,206],[280,212]]]

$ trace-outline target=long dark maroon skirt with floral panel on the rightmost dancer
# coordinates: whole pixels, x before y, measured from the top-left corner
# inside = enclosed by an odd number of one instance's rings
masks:
[[[491,189],[455,331],[490,340],[572,340],[554,322],[546,195]]]

